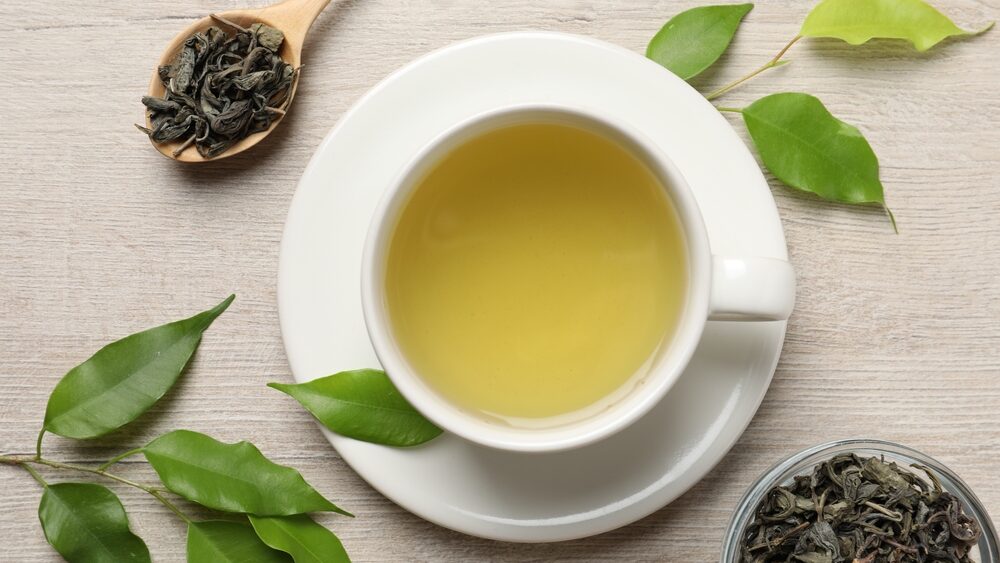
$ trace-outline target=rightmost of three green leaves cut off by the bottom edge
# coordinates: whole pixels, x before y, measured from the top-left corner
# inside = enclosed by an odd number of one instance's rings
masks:
[[[257,535],[274,549],[287,552],[295,563],[350,563],[333,532],[305,514],[296,516],[250,516]]]

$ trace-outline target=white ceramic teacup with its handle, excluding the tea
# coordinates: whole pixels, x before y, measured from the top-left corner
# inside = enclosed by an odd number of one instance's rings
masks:
[[[641,385],[607,409],[550,428],[497,424],[455,406],[421,379],[393,336],[384,299],[386,255],[399,214],[412,191],[441,158],[488,131],[524,123],[582,127],[618,142],[658,177],[686,238],[687,303],[675,334]],[[780,321],[795,302],[795,274],[784,260],[713,256],[708,233],[684,177],[670,159],[626,123],[594,109],[554,104],[516,105],[477,115],[432,140],[388,187],[368,230],[361,270],[361,297],[372,345],[383,368],[414,407],[441,428],[472,442],[504,450],[546,452],[579,447],[622,430],[648,412],[684,371],[708,320]]]

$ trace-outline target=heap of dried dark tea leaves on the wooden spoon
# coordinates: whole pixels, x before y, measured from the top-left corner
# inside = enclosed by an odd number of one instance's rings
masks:
[[[157,143],[183,140],[174,156],[194,146],[204,158],[268,129],[292,99],[297,69],[278,54],[284,34],[255,23],[249,29],[220,16],[187,38],[169,65],[159,68],[165,93],[143,96],[152,127],[136,125]]]

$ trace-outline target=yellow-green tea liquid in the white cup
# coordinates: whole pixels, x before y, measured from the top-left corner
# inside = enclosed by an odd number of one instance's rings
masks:
[[[508,126],[419,182],[386,264],[390,329],[456,406],[512,424],[585,414],[641,382],[685,303],[664,187],[618,143]]]

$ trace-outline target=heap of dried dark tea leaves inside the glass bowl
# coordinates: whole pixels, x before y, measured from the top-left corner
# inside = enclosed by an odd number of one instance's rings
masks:
[[[741,563],[972,563],[979,523],[929,468],[913,467],[927,479],[843,454],[772,488],[743,536]]]

